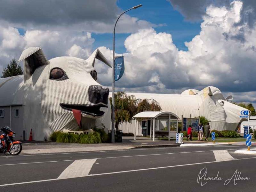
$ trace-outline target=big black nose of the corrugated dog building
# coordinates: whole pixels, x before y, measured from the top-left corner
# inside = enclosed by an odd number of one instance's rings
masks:
[[[104,103],[108,105],[108,87],[99,85],[90,85],[89,87],[89,101],[91,103]]]

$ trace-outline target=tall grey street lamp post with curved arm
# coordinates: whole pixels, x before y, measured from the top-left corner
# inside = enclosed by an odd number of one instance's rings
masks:
[[[125,12],[123,12],[116,20],[119,20],[119,18],[126,12],[132,10],[132,9],[137,9],[139,7],[141,7],[142,4],[139,4],[137,6],[132,7],[131,9],[126,10]],[[114,27],[114,35],[113,35],[113,66],[112,66],[112,118],[111,118],[111,123],[112,123],[112,127],[111,127],[111,143],[115,143],[115,30],[116,30],[116,23],[115,23],[115,27]]]

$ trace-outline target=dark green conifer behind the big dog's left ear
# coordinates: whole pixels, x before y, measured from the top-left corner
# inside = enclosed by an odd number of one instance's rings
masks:
[[[13,58],[12,60],[10,60],[10,64],[8,64],[6,68],[4,68],[3,75],[1,76],[1,78],[17,75],[23,75],[23,70],[20,64],[17,63],[15,58]]]

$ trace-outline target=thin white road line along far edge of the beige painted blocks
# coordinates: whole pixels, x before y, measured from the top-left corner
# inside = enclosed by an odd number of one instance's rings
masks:
[[[236,148],[241,149],[241,148]],[[227,150],[236,150],[236,149],[227,149]],[[201,153],[201,152],[210,152],[213,150],[207,151],[187,151],[187,152],[175,152],[175,153],[160,153],[160,154],[147,154],[147,155],[132,155],[132,156],[116,156],[116,157],[100,157],[97,159],[111,159],[111,158],[123,158],[123,157],[139,157],[139,156],[157,156],[157,155],[171,155],[171,154],[182,154],[182,153]],[[0,166],[6,165],[21,165],[21,164],[36,164],[36,163],[52,163],[52,162],[62,162],[62,161],[76,161],[80,159],[70,159],[70,160],[60,160],[60,161],[44,161],[44,162],[31,162],[31,163],[17,163],[17,164],[0,164]]]

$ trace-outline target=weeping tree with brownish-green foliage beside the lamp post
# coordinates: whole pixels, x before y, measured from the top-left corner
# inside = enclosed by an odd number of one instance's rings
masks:
[[[112,103],[112,98],[110,98]],[[112,108],[112,105],[111,105]],[[143,111],[161,111],[162,108],[156,100],[136,99],[134,95],[126,95],[124,92],[115,93],[115,128],[119,124],[132,122],[132,117]]]

